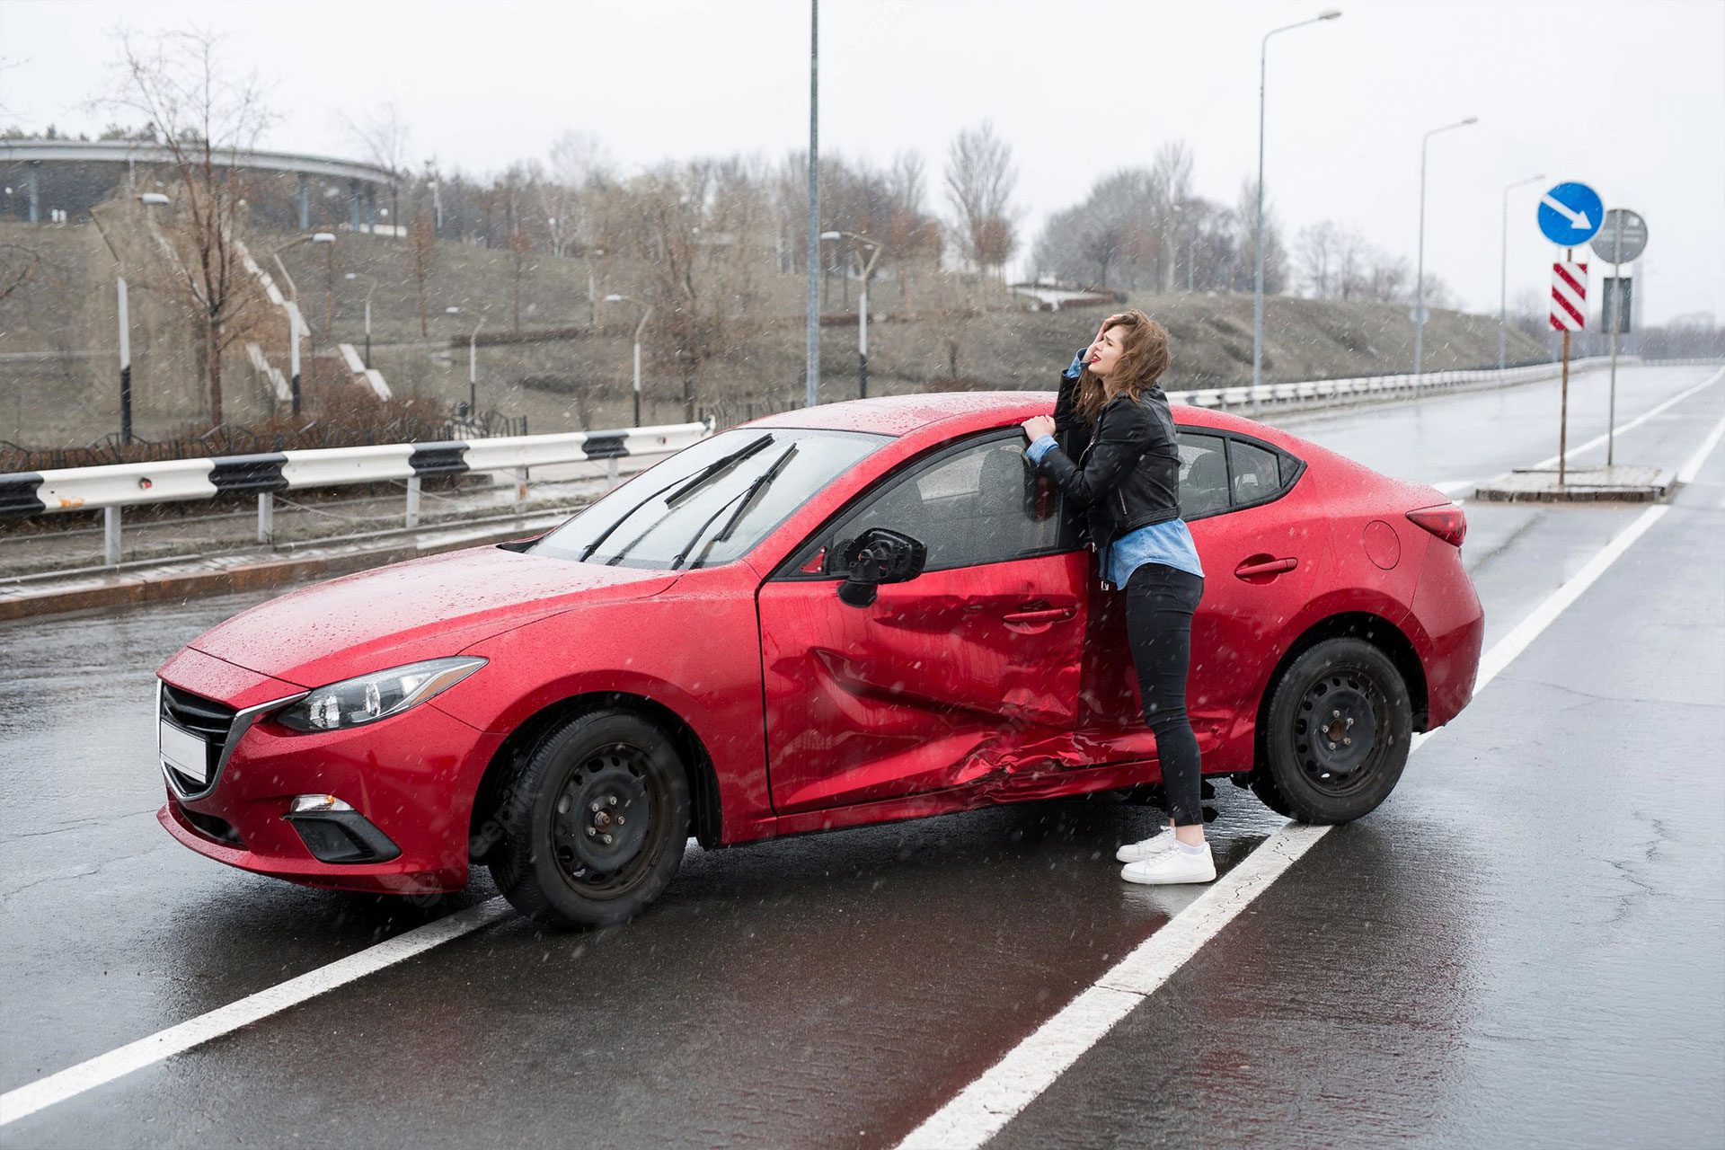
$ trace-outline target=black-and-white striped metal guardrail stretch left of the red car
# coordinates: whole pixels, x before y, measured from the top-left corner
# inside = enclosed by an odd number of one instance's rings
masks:
[[[102,553],[107,566],[114,567],[121,557],[121,516],[126,507],[255,491],[257,541],[271,543],[278,491],[405,479],[405,526],[414,528],[419,524],[419,497],[426,476],[512,471],[519,503],[526,500],[528,467],[604,462],[607,479],[616,484],[619,459],[669,455],[711,433],[711,422],[687,422],[14,472],[0,474],[0,516],[102,509]]]

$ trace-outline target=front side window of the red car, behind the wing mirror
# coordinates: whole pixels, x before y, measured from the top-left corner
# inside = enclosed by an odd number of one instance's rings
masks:
[[[1023,436],[994,438],[899,476],[828,529],[823,543],[844,553],[845,541],[869,528],[892,528],[928,548],[925,571],[1061,550],[1057,491],[1023,448]]]

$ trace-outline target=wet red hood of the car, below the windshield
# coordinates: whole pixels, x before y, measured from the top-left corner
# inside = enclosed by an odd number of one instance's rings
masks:
[[[188,647],[298,686],[419,659],[583,605],[657,595],[666,571],[476,547],[317,583],[243,610]]]

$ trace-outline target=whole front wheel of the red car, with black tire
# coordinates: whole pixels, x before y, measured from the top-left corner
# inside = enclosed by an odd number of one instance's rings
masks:
[[[614,926],[671,884],[688,822],[688,774],[664,731],[624,710],[588,712],[524,757],[492,878],[536,922]]]

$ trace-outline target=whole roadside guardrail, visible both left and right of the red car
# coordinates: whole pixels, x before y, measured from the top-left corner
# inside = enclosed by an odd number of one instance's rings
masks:
[[[1570,369],[1596,367],[1604,357],[1571,360]],[[1620,357],[1620,362],[1637,360]],[[1283,410],[1313,400],[1349,397],[1397,398],[1416,391],[1442,391],[1478,383],[1516,384],[1558,376],[1558,364],[1532,364],[1506,371],[1437,371],[1414,376],[1366,376],[1361,379],[1316,379],[1311,383],[1266,383],[1258,388],[1261,407]],[[1168,398],[1194,407],[1247,407],[1254,388],[1201,388],[1171,391]],[[374,447],[329,447],[212,459],[171,459],[152,464],[109,464],[0,474],[0,516],[40,516],[67,510],[104,510],[104,557],[117,566],[121,557],[121,510],[141,503],[202,500],[243,491],[257,493],[257,541],[274,541],[274,495],[305,488],[355,483],[407,481],[405,526],[419,524],[419,490],[424,476],[462,472],[516,472],[516,500],[526,498],[528,467],[602,460],[607,478],[618,481],[618,460],[669,455],[712,434],[707,422],[621,428],[614,431],[569,431],[440,443],[383,443]]]

